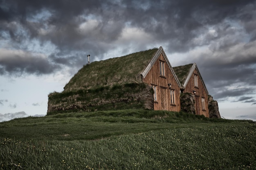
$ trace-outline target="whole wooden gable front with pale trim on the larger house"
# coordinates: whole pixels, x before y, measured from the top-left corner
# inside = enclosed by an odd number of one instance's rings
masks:
[[[142,81],[154,89],[154,110],[180,111],[182,86],[162,47],[157,50],[141,76]]]

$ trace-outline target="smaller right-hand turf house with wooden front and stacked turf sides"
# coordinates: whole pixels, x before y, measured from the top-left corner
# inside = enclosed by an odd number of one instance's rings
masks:
[[[182,84],[182,110],[208,118],[220,118],[218,102],[209,95],[196,63],[174,67],[173,70]]]

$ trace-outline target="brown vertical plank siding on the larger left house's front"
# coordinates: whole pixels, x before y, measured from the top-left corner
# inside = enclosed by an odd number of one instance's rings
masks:
[[[165,76],[160,76],[160,61],[164,62]],[[148,85],[155,85],[157,87],[157,102],[154,102],[154,110],[180,111],[180,87],[175,81],[162,53],[143,81]],[[171,88],[174,89],[175,105],[171,105],[171,92],[168,83],[171,83]]]

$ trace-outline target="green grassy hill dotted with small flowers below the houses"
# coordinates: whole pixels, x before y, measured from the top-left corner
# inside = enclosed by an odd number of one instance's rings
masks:
[[[0,169],[255,169],[256,124],[150,110],[0,123]]]

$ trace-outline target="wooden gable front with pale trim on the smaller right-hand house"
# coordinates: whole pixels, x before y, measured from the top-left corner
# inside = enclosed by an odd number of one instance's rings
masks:
[[[194,95],[195,99],[195,113],[197,115],[204,115],[209,118],[209,108],[208,108],[208,90],[204,84],[202,76],[199,72],[198,66],[196,63],[193,65],[185,65],[189,66],[190,69],[187,72],[187,76],[184,79],[183,85],[183,93],[190,93]],[[184,67],[184,66],[183,66]],[[184,68],[185,68],[184,67]],[[178,68],[178,67],[177,67]],[[175,70],[178,70],[174,68]],[[179,77],[180,78],[180,77]]]

